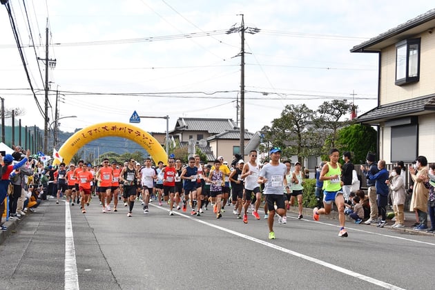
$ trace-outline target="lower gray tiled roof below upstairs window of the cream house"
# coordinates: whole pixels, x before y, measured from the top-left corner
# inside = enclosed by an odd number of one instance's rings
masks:
[[[378,106],[360,115],[356,120],[374,124],[397,117],[421,115],[425,110],[435,110],[435,94]]]

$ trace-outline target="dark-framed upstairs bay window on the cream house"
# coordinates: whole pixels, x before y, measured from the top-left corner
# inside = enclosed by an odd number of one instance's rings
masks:
[[[396,85],[413,83],[420,77],[420,39],[406,39],[396,44]]]

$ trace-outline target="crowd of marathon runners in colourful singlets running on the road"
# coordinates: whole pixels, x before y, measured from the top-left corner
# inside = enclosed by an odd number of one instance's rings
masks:
[[[222,218],[225,206],[231,204],[233,214],[247,224],[249,211],[255,220],[260,220],[258,210],[264,202],[269,239],[275,239],[275,217],[280,224],[286,224],[290,204],[297,199],[301,206],[303,189],[300,164],[296,162],[296,170],[292,172],[291,162],[281,162],[281,152],[279,147],[271,148],[270,161],[262,166],[258,164],[257,151],[251,151],[246,163],[240,156],[235,156],[231,164],[220,156],[212,165],[204,164],[199,155],[189,157],[187,164],[170,155],[166,166],[163,161],[153,166],[151,158],[146,158],[143,164],[133,158],[122,164],[105,158],[99,166],[85,164],[83,160],[77,166],[64,163],[58,168],[49,166],[44,175],[49,177],[48,197],[56,198],[59,204],[59,198],[64,196],[66,202],[79,207],[81,213],[86,213],[93,197],[98,197],[101,213],[117,212],[121,204],[128,207],[128,217],[133,215],[135,203],[139,202],[144,215],[149,213],[148,205],[154,201],[159,206],[168,204],[169,215],[174,215],[174,211],[189,210],[191,215],[200,217],[210,210],[216,219]],[[331,196],[327,197],[325,209],[314,211],[315,220],[330,209],[330,202],[342,205],[337,156],[338,151],[331,153],[331,162],[322,172],[327,184],[325,191],[330,191]],[[26,162],[27,158],[24,159]],[[21,161],[20,166],[25,166],[26,162]],[[15,167],[13,169],[17,169]],[[302,219],[301,209],[298,218]],[[344,221],[340,220],[340,224],[339,235],[345,237]]]

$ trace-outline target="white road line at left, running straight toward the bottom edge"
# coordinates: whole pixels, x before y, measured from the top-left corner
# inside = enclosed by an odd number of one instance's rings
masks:
[[[77,275],[77,262],[75,260],[74,236],[72,235],[72,222],[70,204],[65,202],[65,288],[79,290],[79,276]]]

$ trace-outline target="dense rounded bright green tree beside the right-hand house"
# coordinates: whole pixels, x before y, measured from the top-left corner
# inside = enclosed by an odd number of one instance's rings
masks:
[[[352,124],[338,131],[337,148],[349,151],[354,163],[364,163],[367,152],[376,152],[377,133],[371,126]]]

